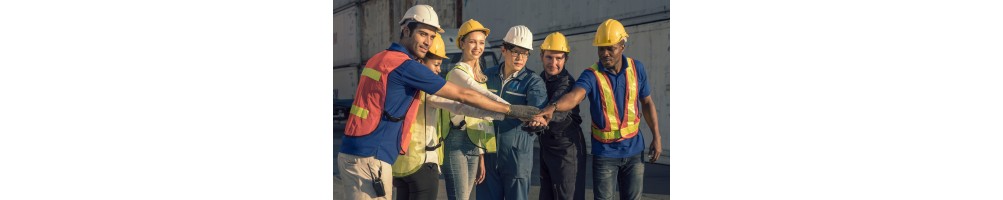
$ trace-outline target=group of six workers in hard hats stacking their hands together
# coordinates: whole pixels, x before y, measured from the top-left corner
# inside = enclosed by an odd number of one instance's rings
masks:
[[[623,55],[628,34],[619,21],[599,25],[599,59],[577,80],[565,69],[571,49],[560,32],[540,45],[540,73],[526,67],[534,39],[524,25],[506,33],[504,61],[482,66],[490,29],[469,19],[457,35],[462,56],[441,78],[448,63],[432,7],[411,7],[399,24],[399,42],[373,55],[359,78],[337,161],[343,199],[392,199],[393,188],[397,199],[436,199],[439,174],[450,200],[529,199],[538,138],[539,199],[585,199],[585,97],[595,198],[619,191],[620,199],[640,199],[641,116],[652,133],[650,162],[661,154],[661,135],[644,64]]]

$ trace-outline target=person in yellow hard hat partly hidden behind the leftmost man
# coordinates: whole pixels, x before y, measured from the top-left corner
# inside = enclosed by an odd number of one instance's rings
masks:
[[[445,44],[436,34],[428,54],[420,58],[432,72],[439,73],[442,59],[445,59]],[[407,154],[397,157],[393,163],[393,186],[397,188],[398,199],[433,200],[438,194],[439,163],[442,149],[439,136],[440,112],[463,114],[485,119],[504,118],[505,115],[483,111],[461,103],[419,91],[420,103],[414,124],[410,127],[411,140]],[[443,121],[444,123],[444,121]]]

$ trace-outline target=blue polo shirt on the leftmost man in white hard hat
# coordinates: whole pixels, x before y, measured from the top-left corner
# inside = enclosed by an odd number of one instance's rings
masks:
[[[387,50],[404,52],[411,58],[390,71],[387,76],[383,109],[391,116],[404,116],[418,90],[435,93],[445,85],[445,79],[415,61],[414,55],[400,44],[393,43]],[[397,160],[397,150],[400,149],[402,123],[403,121],[390,122],[381,117],[372,134],[363,137],[345,136],[340,152],[359,157],[376,156],[377,160],[393,165],[393,161]]]

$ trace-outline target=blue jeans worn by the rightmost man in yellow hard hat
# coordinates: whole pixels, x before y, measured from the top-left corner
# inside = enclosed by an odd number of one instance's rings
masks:
[[[620,188],[620,199],[641,199],[644,184],[644,152],[627,158],[593,156],[592,190],[596,199],[613,199]]]

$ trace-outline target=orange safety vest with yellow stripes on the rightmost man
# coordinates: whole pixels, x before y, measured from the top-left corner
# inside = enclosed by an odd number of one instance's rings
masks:
[[[603,108],[603,116],[606,117],[605,129],[599,129],[596,121],[592,123],[592,138],[601,143],[610,144],[634,138],[637,136],[638,128],[641,127],[641,118],[637,115],[637,68],[634,67],[634,59],[628,57],[626,67],[624,71],[627,73],[627,90],[624,91],[624,94],[627,97],[624,102],[626,104],[624,110],[627,110],[627,113],[623,119],[619,118],[620,112],[617,111],[617,102],[613,97],[613,85],[610,84],[610,78],[599,68],[598,62],[586,69],[596,75],[596,85],[599,86],[600,92],[599,104]]]

